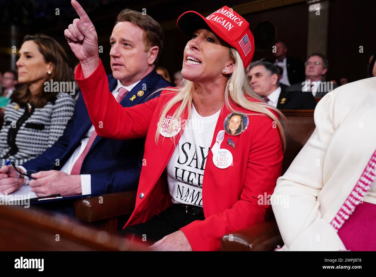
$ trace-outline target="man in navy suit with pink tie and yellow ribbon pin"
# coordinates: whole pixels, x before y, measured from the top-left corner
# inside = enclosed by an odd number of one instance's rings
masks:
[[[74,32],[73,26],[68,29]],[[149,15],[129,9],[121,11],[110,43],[113,77],[108,76],[109,90],[123,107],[144,103],[159,95],[153,94],[155,90],[171,86],[155,70],[163,30]],[[143,150],[144,139],[121,141],[97,136],[80,95],[59,140],[20,166],[24,172],[38,171],[33,174],[36,180],[12,178],[17,172],[5,165],[0,168],[0,192],[9,194],[27,183],[37,196],[133,190],[138,185]]]

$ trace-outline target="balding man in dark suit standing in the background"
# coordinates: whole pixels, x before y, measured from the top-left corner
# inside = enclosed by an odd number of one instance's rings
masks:
[[[274,43],[276,51],[274,54],[275,60],[271,61],[274,65],[282,67],[282,78],[279,83],[286,86],[304,81],[304,64],[298,58],[286,57],[287,46],[283,41],[276,41]]]

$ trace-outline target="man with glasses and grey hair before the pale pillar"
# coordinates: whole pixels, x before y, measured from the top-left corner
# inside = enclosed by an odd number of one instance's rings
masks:
[[[320,53],[311,54],[305,63],[305,81],[294,84],[287,91],[311,92],[314,97],[323,97],[338,85],[324,82],[323,77],[329,68],[327,58]]]

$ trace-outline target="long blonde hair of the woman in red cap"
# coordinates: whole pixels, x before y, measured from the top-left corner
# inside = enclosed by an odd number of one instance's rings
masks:
[[[239,106],[243,107],[244,109],[251,110],[253,112],[257,113],[251,113],[247,115],[259,115],[263,114],[268,117],[270,117],[273,120],[273,123],[275,122],[276,127],[279,130],[280,138],[282,140],[283,149],[286,148],[286,138],[285,133],[282,128],[282,124],[278,120],[277,116],[274,115],[273,112],[270,110],[274,110],[281,119],[286,121],[285,116],[275,107],[265,103],[262,101],[262,98],[258,96],[255,92],[253,92],[252,88],[250,87],[245,71],[243,66],[243,61],[241,60],[241,57],[238,53],[238,51],[235,48],[230,48],[230,58],[235,61],[235,67],[232,72],[232,74],[229,75],[226,88],[224,91],[224,104],[226,105],[227,109],[229,109],[232,112],[236,112],[236,110],[232,107],[230,104],[229,98]],[[178,102],[181,102],[179,107],[176,109],[176,111],[173,114],[173,118],[181,118],[183,115],[183,112],[185,109],[188,110],[188,119],[191,118],[191,106],[192,106],[192,89],[193,89],[193,82],[184,80],[181,87],[177,88],[168,88],[167,90],[170,92],[167,93],[176,93],[176,95],[171,98],[170,101],[168,101],[165,104],[164,109],[161,112],[161,115],[159,117],[158,121],[158,127],[155,133],[155,144],[158,144],[158,138],[159,138],[159,130],[162,126],[163,119],[167,115],[168,111]],[[165,90],[165,88],[158,89],[156,92]],[[166,93],[166,94],[167,94]],[[261,100],[262,102],[252,102],[249,101],[244,94],[251,96],[252,98],[256,98]],[[268,110],[270,109],[270,110]],[[184,126],[186,125],[188,121],[184,122],[182,124],[181,128],[184,129]],[[174,140],[174,137],[172,137]]]

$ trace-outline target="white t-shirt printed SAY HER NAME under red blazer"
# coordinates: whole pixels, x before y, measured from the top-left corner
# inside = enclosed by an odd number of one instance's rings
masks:
[[[202,117],[192,104],[191,119],[167,164],[168,190],[173,203],[202,207],[206,158],[220,112]]]

